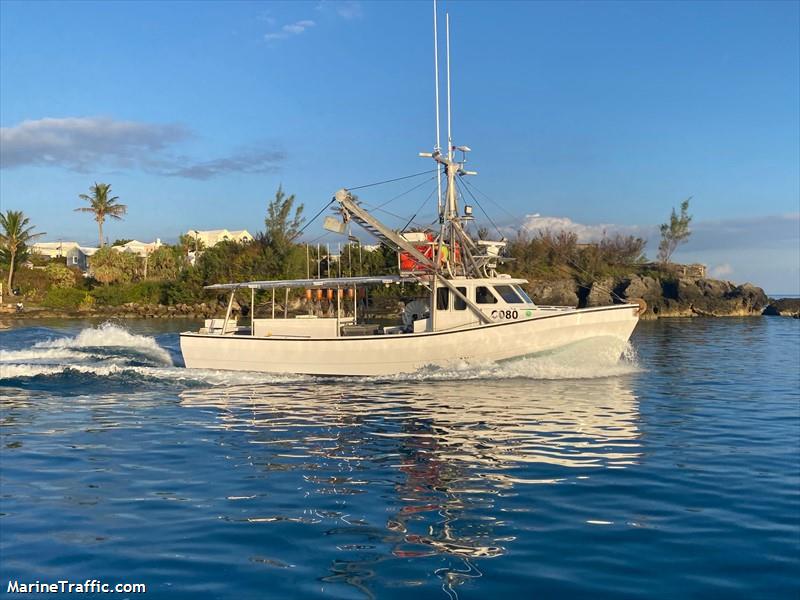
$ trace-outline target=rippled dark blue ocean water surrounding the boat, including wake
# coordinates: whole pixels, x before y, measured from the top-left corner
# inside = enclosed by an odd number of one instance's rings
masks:
[[[0,331],[4,591],[800,596],[796,319],[381,380],[187,370],[185,327]]]

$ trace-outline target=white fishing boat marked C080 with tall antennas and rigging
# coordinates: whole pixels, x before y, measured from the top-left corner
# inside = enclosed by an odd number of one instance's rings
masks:
[[[420,156],[432,158],[437,172],[438,231],[403,233],[383,224],[349,190],[331,203],[339,219],[326,228],[340,233],[356,223],[398,254],[398,273],[386,276],[327,277],[248,281],[207,286],[229,291],[224,318],[209,319],[199,331],[180,336],[188,368],[311,375],[394,375],[426,368],[464,368],[498,363],[585,344],[587,351],[621,356],[639,318],[639,304],[593,308],[536,305],[524,279],[498,272],[505,240],[474,240],[469,233],[472,207],[461,206],[457,180],[475,175],[465,168],[470,149],[456,146],[450,128],[450,49],[447,19],[447,148],[440,146],[439,67],[434,4],[436,145]],[[460,156],[457,156],[460,154]],[[442,179],[445,185],[442,185]],[[370,323],[359,301],[371,286],[414,284],[425,290],[409,302],[395,325]],[[282,318],[275,314],[275,292],[284,290]],[[289,291],[329,299],[331,316],[290,317]],[[250,291],[248,323],[232,314],[234,297]],[[272,290],[270,318],[252,307],[259,290]],[[359,311],[359,305],[362,310]],[[587,342],[590,342],[587,344]]]

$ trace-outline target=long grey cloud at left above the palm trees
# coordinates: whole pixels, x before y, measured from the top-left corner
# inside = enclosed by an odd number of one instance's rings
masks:
[[[269,173],[285,159],[256,147],[196,160],[170,152],[192,132],[176,124],[118,121],[108,117],[47,118],[0,128],[0,167],[61,167],[86,173],[98,168],[140,169],[156,175],[208,179],[224,173]]]

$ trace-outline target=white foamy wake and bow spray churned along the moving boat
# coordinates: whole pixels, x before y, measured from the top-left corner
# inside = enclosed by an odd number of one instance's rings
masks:
[[[431,367],[413,374],[377,378],[320,378],[186,369],[173,359],[173,356],[176,359],[179,356],[177,340],[167,339],[164,345],[166,347],[160,345],[155,337],[135,334],[119,325],[105,323],[84,329],[73,337],[51,338],[23,349],[0,350],[0,385],[43,387],[69,393],[85,391],[86,386],[92,384],[107,391],[126,391],[136,383],[194,388],[342,380],[592,379],[628,375],[640,370],[630,344],[620,347],[618,344],[609,344],[607,340],[584,342],[557,352],[502,364],[463,363],[450,368]]]

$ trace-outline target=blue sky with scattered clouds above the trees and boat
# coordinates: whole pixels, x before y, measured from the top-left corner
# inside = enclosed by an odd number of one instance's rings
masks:
[[[454,139],[472,147],[471,183],[502,206],[482,202],[504,232],[635,233],[654,255],[658,223],[692,196],[695,234],[677,260],[800,293],[800,4],[440,6]],[[72,209],[104,181],[129,206],[111,239],[174,240],[261,229],[281,183],[311,215],[340,187],[423,171],[431,12],[1,2],[2,209],[24,210],[48,239],[96,243]],[[416,183],[361,195],[380,204]],[[429,188],[386,208],[410,216]],[[309,227],[309,239],[322,233]]]

